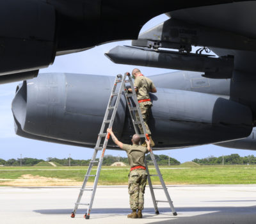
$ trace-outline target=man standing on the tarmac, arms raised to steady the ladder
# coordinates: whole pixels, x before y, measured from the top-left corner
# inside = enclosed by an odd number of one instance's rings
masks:
[[[147,184],[147,172],[145,167],[145,154],[150,151],[150,141],[146,141],[147,148],[140,145],[140,136],[132,136],[132,145],[127,145],[118,141],[112,129],[107,130],[111,134],[112,140],[118,147],[127,152],[131,170],[129,173],[128,193],[130,195],[131,214],[127,218],[142,218],[144,205],[144,193]],[[137,212],[138,209],[138,212]]]

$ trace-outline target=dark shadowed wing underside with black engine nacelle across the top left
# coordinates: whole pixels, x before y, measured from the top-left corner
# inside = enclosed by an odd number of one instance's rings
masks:
[[[58,55],[115,40],[136,40],[162,13],[240,1],[0,1],[0,83],[35,77]],[[223,22],[223,21],[221,21]]]

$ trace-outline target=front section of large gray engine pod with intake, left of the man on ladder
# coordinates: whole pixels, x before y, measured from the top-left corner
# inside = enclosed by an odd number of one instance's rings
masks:
[[[23,132],[74,143],[97,140],[114,77],[79,74],[40,74],[24,81],[12,102],[13,115]],[[124,97],[113,129],[124,126]]]

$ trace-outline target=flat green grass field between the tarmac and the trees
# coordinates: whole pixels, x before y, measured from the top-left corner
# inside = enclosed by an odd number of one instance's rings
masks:
[[[95,166],[95,169],[97,167]],[[92,174],[96,170],[93,169]],[[161,166],[166,184],[256,184],[256,166]],[[82,182],[87,166],[32,166],[32,167],[0,167],[0,186],[8,186],[6,180],[19,179],[22,175],[33,175],[54,179],[71,179]],[[153,166],[149,166],[151,174],[156,174]],[[102,166],[100,185],[127,184],[129,168]],[[89,179],[89,182],[93,179]],[[160,184],[158,177],[152,177],[154,184]],[[3,184],[4,183],[4,184]]]

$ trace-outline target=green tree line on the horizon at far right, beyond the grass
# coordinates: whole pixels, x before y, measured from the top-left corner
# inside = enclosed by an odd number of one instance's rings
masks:
[[[238,154],[231,154],[230,156],[214,157],[209,156],[204,159],[193,159],[193,162],[198,164],[256,164],[256,157],[253,155],[241,157]]]

